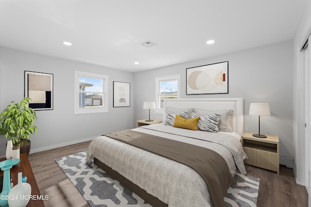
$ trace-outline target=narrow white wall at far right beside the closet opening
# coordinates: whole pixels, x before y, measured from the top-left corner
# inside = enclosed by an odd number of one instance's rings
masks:
[[[294,172],[296,182],[305,185],[305,139],[304,139],[304,54],[302,44],[311,32],[311,1],[305,8],[293,39],[293,96],[294,96]],[[309,43],[310,46],[310,43]]]

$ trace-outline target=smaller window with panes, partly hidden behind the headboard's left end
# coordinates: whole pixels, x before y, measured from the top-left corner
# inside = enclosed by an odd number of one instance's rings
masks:
[[[155,78],[155,113],[163,113],[166,98],[180,98],[180,74]]]

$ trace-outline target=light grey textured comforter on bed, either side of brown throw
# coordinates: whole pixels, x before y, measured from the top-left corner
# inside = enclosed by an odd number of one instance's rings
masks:
[[[240,141],[227,134],[192,131],[162,124],[139,127],[143,133],[203,146],[226,160],[230,172],[245,174],[246,158]],[[192,168],[111,138],[97,137],[89,145],[86,161],[97,158],[169,207],[213,206],[203,178]]]

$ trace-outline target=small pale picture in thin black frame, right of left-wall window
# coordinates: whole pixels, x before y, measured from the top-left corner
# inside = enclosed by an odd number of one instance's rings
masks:
[[[113,107],[130,106],[130,83],[113,81]]]

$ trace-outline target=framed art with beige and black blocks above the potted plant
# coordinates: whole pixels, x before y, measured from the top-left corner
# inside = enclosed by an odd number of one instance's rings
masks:
[[[34,110],[53,110],[53,74],[25,71],[25,97]]]

